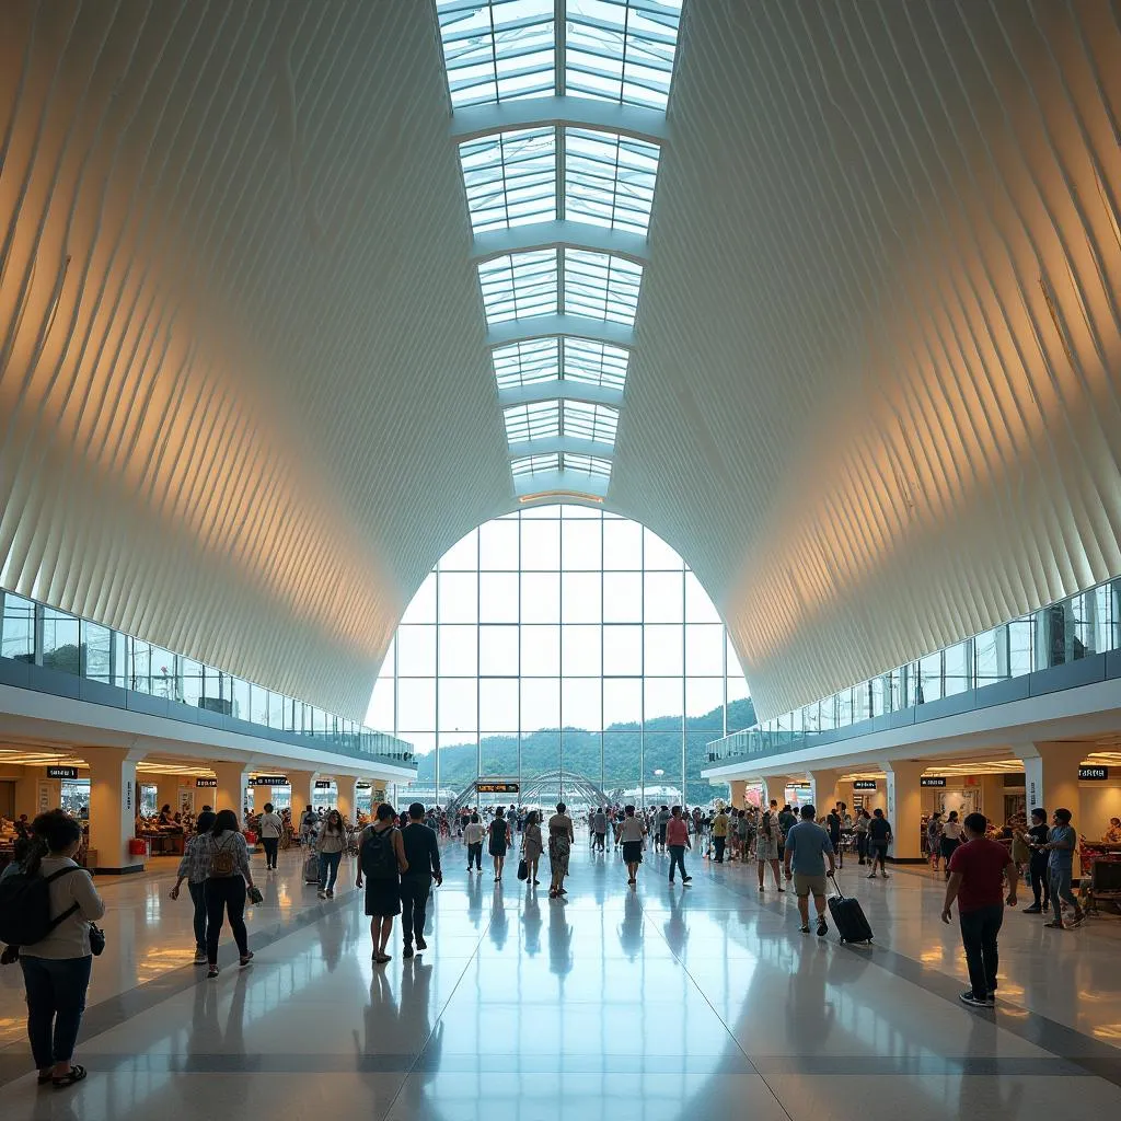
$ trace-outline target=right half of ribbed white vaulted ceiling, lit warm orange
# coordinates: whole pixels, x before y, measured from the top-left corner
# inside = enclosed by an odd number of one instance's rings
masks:
[[[610,506],[761,716],[1121,572],[1115,4],[691,0]]]

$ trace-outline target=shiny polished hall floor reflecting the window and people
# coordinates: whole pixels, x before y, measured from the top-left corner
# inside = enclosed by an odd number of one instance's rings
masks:
[[[298,856],[259,878],[249,929],[206,981],[191,964],[189,902],[167,898],[174,862],[99,880],[109,949],[94,967],[77,1060],[89,1080],[38,1090],[18,967],[0,971],[0,1115],[323,1117],[448,1121],[1091,1117],[1121,1108],[1121,919],[1046,930],[1009,914],[995,1012],[963,1008],[956,927],[941,878],[850,865],[871,948],[798,933],[789,895],[754,867],[689,858],[666,882],[648,854],[637,891],[608,853],[577,844],[567,902],[511,867],[447,879],[429,951],[370,961],[348,884],[330,902]],[[260,863],[259,860],[256,863]],[[229,939],[226,939],[229,943]]]

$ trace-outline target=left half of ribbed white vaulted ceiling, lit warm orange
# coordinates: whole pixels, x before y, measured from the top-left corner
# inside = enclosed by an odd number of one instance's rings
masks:
[[[0,6],[0,582],[356,719],[512,500],[416,0]]]

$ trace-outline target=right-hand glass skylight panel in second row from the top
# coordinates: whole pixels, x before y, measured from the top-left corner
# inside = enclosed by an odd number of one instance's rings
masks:
[[[645,234],[650,225],[657,145],[613,132],[565,129],[565,216]]]

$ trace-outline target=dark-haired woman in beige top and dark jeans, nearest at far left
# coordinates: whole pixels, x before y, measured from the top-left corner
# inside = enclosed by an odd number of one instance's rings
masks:
[[[27,883],[47,880],[53,925],[45,937],[19,947],[27,1035],[39,1085],[64,1090],[86,1076],[85,1067],[73,1060],[74,1047],[93,971],[90,924],[105,914],[105,905],[90,873],[74,862],[82,826],[70,814],[39,814],[30,833],[33,844],[21,870]]]

